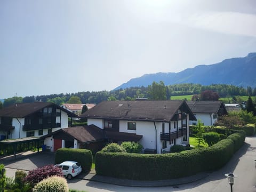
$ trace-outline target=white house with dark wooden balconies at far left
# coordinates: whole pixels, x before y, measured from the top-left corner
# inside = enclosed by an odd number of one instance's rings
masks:
[[[77,115],[51,102],[16,103],[0,110],[2,139],[41,137],[68,127]]]

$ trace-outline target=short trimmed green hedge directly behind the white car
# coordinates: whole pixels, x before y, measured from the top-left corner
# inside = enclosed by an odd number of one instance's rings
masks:
[[[76,161],[81,164],[82,172],[89,172],[92,167],[92,151],[87,149],[60,148],[55,153],[55,164],[64,161]]]

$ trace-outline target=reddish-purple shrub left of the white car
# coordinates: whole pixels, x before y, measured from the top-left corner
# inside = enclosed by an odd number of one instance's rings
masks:
[[[54,165],[46,165],[41,168],[29,171],[28,175],[24,178],[24,181],[29,183],[31,186],[35,186],[36,183],[52,175],[63,177],[62,171],[59,167]]]

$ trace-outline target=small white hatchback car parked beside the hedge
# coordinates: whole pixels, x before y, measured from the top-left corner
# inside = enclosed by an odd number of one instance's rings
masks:
[[[76,175],[82,172],[81,165],[74,161],[65,161],[55,166],[60,167],[63,175],[68,179],[72,179],[73,177],[76,177]]]

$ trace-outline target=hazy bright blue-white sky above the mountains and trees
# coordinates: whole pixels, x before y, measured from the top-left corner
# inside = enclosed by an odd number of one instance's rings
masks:
[[[0,98],[113,90],[256,52],[255,0],[1,0]]]

